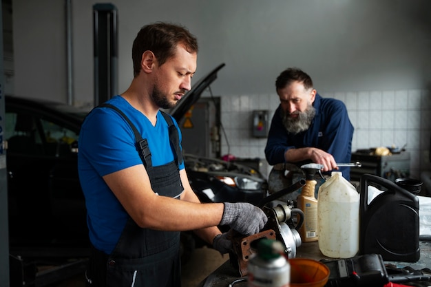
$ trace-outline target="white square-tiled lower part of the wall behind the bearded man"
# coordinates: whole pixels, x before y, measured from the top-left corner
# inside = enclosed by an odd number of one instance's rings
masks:
[[[318,91],[327,98],[342,100],[355,127],[352,151],[370,147],[403,147],[410,152],[410,177],[419,179],[421,171],[431,170],[431,91],[399,90],[377,92]],[[269,123],[280,101],[277,94],[222,96],[222,155],[261,158],[264,174],[266,138],[253,138],[253,110],[268,110]],[[228,143],[229,142],[229,145]]]

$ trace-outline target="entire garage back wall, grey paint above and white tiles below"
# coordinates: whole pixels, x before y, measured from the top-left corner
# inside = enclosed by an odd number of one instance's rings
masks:
[[[74,104],[93,100],[92,6],[72,0]],[[118,8],[118,85],[132,80],[132,41],[154,21],[186,25],[200,43],[196,78],[220,63],[231,145],[222,154],[264,158],[250,135],[253,109],[277,106],[275,77],[301,67],[323,96],[344,100],[355,126],[353,150],[407,145],[414,177],[431,169],[431,1],[185,0],[110,1]],[[12,94],[66,102],[65,1],[13,0]],[[8,86],[7,86],[8,87]],[[245,119],[245,120],[244,120]],[[239,136],[238,136],[239,135]]]

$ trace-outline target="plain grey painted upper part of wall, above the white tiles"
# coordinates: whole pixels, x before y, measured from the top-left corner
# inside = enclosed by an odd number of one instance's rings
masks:
[[[92,101],[92,5],[72,0],[74,98]],[[302,67],[319,89],[430,85],[431,1],[110,1],[118,8],[119,89],[132,79],[131,46],[153,21],[186,25],[200,43],[198,77],[226,63],[221,95],[273,91],[277,74]],[[14,93],[66,98],[65,1],[13,0]]]

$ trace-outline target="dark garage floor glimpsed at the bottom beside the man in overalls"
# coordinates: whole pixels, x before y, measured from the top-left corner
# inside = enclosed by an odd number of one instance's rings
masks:
[[[182,287],[196,287],[205,277],[229,260],[229,255],[220,255],[212,248],[196,248],[187,264],[182,266]],[[83,275],[69,279],[55,287],[84,287]],[[54,286],[52,286],[54,287]]]

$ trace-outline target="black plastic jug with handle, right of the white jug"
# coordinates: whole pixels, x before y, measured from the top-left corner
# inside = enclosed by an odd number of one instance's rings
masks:
[[[383,191],[368,204],[368,187]],[[394,182],[364,174],[360,183],[359,254],[380,254],[386,261],[417,262],[419,199]]]

